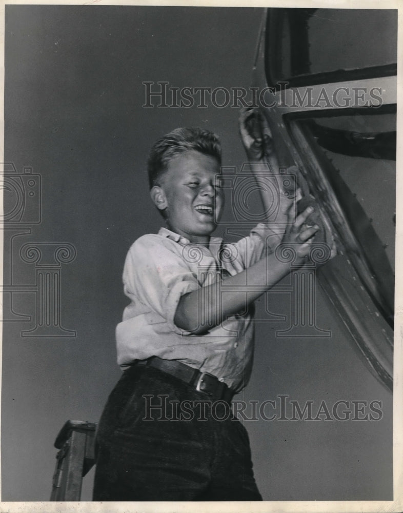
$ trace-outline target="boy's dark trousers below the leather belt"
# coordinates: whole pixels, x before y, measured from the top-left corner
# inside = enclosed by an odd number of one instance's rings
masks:
[[[94,501],[262,500],[230,406],[160,370],[123,373],[97,443]]]

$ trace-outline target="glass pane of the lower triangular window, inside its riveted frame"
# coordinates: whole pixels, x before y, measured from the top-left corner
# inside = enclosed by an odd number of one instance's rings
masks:
[[[306,123],[372,220],[394,268],[396,114],[319,117]]]

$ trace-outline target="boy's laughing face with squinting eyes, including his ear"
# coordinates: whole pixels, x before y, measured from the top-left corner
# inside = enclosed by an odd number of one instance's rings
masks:
[[[175,155],[160,186],[151,189],[157,208],[165,210],[169,229],[193,243],[208,245],[224,207],[224,192],[217,187],[217,160],[195,150]]]

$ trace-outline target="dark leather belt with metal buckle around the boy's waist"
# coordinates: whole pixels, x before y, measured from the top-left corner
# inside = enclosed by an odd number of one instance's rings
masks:
[[[198,392],[207,393],[214,400],[231,402],[235,391],[208,372],[200,372],[189,365],[176,360],[164,360],[153,356],[147,360],[137,360],[134,365],[147,365],[171,374],[175,378],[193,386]]]

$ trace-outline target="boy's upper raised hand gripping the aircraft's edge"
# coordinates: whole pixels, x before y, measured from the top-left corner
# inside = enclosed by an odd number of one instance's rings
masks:
[[[243,107],[239,114],[239,133],[251,161],[261,161],[274,154],[272,133],[266,118],[253,107]]]

